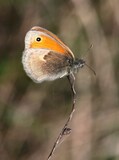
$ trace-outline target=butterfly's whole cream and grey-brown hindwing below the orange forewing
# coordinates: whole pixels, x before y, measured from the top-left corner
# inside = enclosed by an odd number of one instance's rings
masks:
[[[52,81],[68,75],[72,61],[71,57],[53,51],[43,50],[38,54],[35,52],[30,56],[30,70],[27,74],[36,83]]]

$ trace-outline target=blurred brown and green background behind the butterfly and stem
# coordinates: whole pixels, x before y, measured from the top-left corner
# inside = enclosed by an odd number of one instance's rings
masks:
[[[45,160],[71,110],[67,78],[35,84],[23,71],[24,37],[35,25],[97,73],[76,75],[73,131],[53,159],[118,160],[118,0],[0,0],[0,160]]]

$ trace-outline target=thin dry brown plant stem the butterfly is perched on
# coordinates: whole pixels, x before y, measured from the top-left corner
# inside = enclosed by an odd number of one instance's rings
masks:
[[[72,110],[71,110],[71,113],[64,125],[64,127],[62,128],[59,136],[57,137],[53,147],[52,147],[52,150],[47,158],[47,160],[50,160],[50,158],[52,157],[52,155],[54,154],[54,151],[55,149],[57,148],[57,146],[60,144],[63,136],[66,136],[66,135],[69,135],[71,133],[71,129],[68,128],[68,125],[69,125],[69,122],[71,121],[72,119],[72,116],[73,116],[73,113],[75,111],[75,102],[76,102],[76,98],[75,98],[75,95],[76,95],[76,91],[74,89],[74,82],[75,82],[75,77],[73,75],[73,73],[71,73],[69,76],[68,76],[68,80],[69,80],[69,83],[70,83],[70,86],[71,86],[71,90],[72,90],[72,95],[73,95],[73,104],[72,104]]]

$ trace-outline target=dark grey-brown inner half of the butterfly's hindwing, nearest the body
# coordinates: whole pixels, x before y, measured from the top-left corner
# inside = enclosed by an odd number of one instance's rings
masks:
[[[46,63],[42,64],[43,75],[45,80],[54,80],[62,78],[68,74],[70,68],[70,57],[49,51],[44,56]]]

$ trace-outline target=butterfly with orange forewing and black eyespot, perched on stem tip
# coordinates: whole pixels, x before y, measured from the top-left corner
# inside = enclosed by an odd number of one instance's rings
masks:
[[[35,26],[25,36],[22,63],[27,75],[36,83],[52,81],[74,73],[85,64],[52,32]]]

